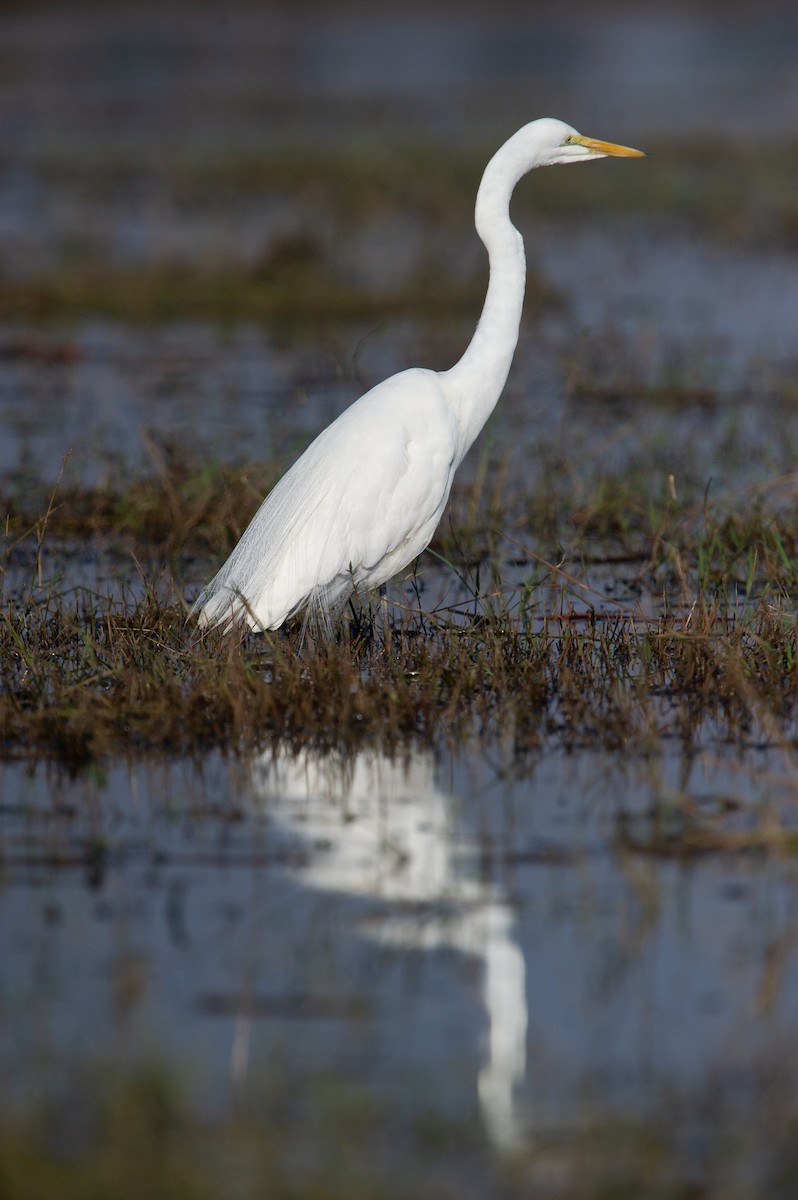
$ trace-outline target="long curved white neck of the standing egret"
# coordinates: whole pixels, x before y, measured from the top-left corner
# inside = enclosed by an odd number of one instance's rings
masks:
[[[516,134],[491,158],[476,193],[476,232],[491,270],[487,296],[468,349],[442,372],[461,432],[461,460],[496,408],[518,341],[527,264],[523,239],[510,221],[510,197],[530,166],[528,145]]]

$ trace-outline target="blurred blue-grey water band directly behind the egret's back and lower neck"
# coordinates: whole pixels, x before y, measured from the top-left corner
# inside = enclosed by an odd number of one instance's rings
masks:
[[[480,443],[509,456],[511,486],[541,448],[587,460],[586,480],[653,449],[677,479],[700,470],[702,487],[792,469],[796,256],[629,222],[524,233],[559,302],[524,323]],[[54,482],[66,458],[67,478],[96,482],[151,469],[150,438],[188,457],[289,462],[365,388],[407,366],[445,368],[468,336],[442,348],[413,322],[310,346],[196,323],[0,329],[0,470]]]

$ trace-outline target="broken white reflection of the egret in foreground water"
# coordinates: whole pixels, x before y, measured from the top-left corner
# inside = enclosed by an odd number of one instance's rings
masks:
[[[526,1073],[523,955],[508,902],[458,860],[455,805],[436,787],[432,757],[264,754],[253,762],[252,786],[270,814],[312,847],[300,882],[385,904],[362,925],[366,936],[407,949],[450,947],[481,960],[490,1032],[479,1100],[493,1141],[512,1145],[520,1132],[514,1092]],[[239,1074],[245,1039],[239,1031]]]

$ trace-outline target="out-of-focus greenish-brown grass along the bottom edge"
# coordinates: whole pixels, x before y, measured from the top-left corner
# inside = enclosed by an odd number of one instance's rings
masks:
[[[756,1116],[744,1128],[722,1087],[712,1098],[666,1093],[644,1114],[535,1129],[503,1164],[473,1122],[425,1111],[421,1098],[402,1111],[341,1078],[301,1096],[265,1081],[223,1121],[199,1116],[157,1061],[84,1067],[78,1085],[79,1102],[0,1116],[5,1200],[401,1200],[431,1187],[505,1200],[754,1200],[792,1195],[798,1182],[798,1118],[778,1072],[749,1084]]]

